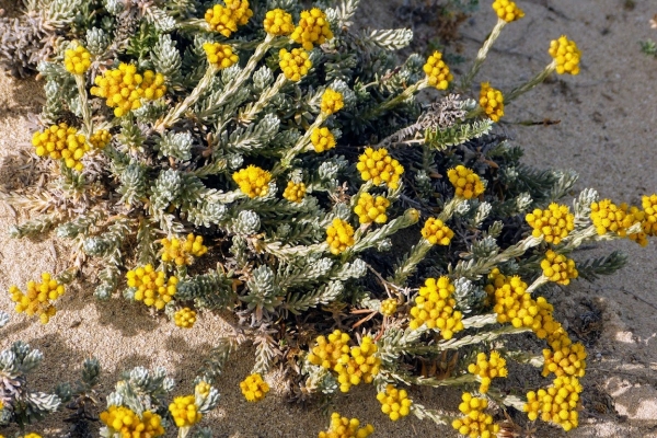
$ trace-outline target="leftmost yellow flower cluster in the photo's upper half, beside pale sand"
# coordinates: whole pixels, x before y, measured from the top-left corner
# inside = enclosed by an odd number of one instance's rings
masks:
[[[36,148],[37,155],[48,155],[53,160],[64,159],[67,168],[78,172],[83,169],[80,160],[91,150],[84,136],[65,123],[34,132],[32,146]]]

